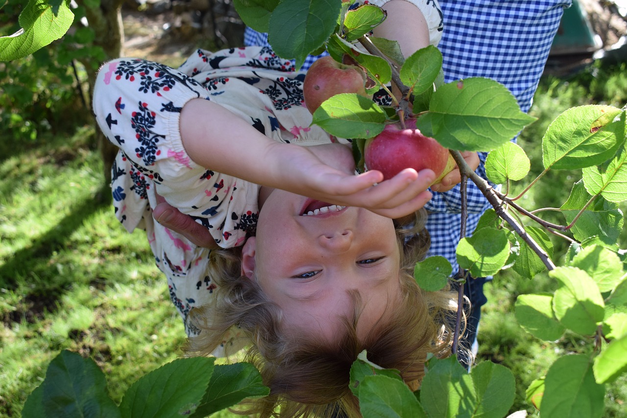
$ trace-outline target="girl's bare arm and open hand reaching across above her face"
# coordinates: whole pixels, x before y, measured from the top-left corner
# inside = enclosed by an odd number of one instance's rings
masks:
[[[209,100],[187,102],[180,129],[183,146],[195,163],[258,185],[336,205],[360,206],[390,218],[415,212],[431,198],[427,188],[435,173],[429,169],[420,173],[405,169],[386,181],[379,171],[356,176],[350,168],[338,169],[326,158],[322,161],[311,147],[271,140]],[[333,146],[338,153],[350,153],[343,145]]]

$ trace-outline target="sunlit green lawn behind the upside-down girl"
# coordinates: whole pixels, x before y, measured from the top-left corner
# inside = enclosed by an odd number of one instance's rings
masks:
[[[531,113],[539,117],[520,143],[538,171],[546,126],[574,105],[627,102],[623,67],[595,66],[568,80],[545,77]],[[590,85],[591,87],[587,87]],[[113,400],[144,373],[180,354],[184,331],[154,266],[142,232],[125,232],[102,185],[102,165],[92,146],[93,127],[14,142],[0,133],[0,416],[19,417],[60,350],[92,357],[107,375]],[[563,185],[579,173],[552,173],[544,185]],[[525,205],[559,206],[567,190],[530,191]],[[623,211],[626,210],[623,206]],[[562,220],[558,220],[562,222]],[[559,240],[556,240],[556,245]],[[627,243],[626,233],[621,248]],[[557,245],[561,254],[564,245]],[[539,341],[517,325],[517,295],[551,289],[507,272],[486,286],[488,304],[479,332],[480,360],[511,368],[517,377],[512,410],[527,409],[527,385],[557,356],[587,350],[589,341],[566,336]],[[607,417],[627,417],[627,381],[608,386]],[[228,416],[224,412],[220,416]]]

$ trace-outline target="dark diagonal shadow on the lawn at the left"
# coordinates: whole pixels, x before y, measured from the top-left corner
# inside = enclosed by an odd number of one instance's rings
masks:
[[[40,318],[46,311],[56,310],[58,299],[71,284],[69,277],[62,277],[51,269],[55,265],[50,259],[55,251],[70,248],[67,240],[83,222],[105,206],[110,205],[111,197],[108,186],[102,186],[95,196],[77,202],[72,212],[59,220],[55,227],[50,228],[41,237],[33,240],[31,245],[19,250],[3,265],[0,265],[0,287],[9,291],[20,291],[23,294],[20,306],[4,315],[3,321],[32,322]]]

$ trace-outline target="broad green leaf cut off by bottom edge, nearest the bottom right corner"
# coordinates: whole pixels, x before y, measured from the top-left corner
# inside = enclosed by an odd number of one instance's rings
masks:
[[[549,368],[540,405],[542,418],[596,418],[603,415],[605,389],[594,381],[586,355],[567,355]]]

